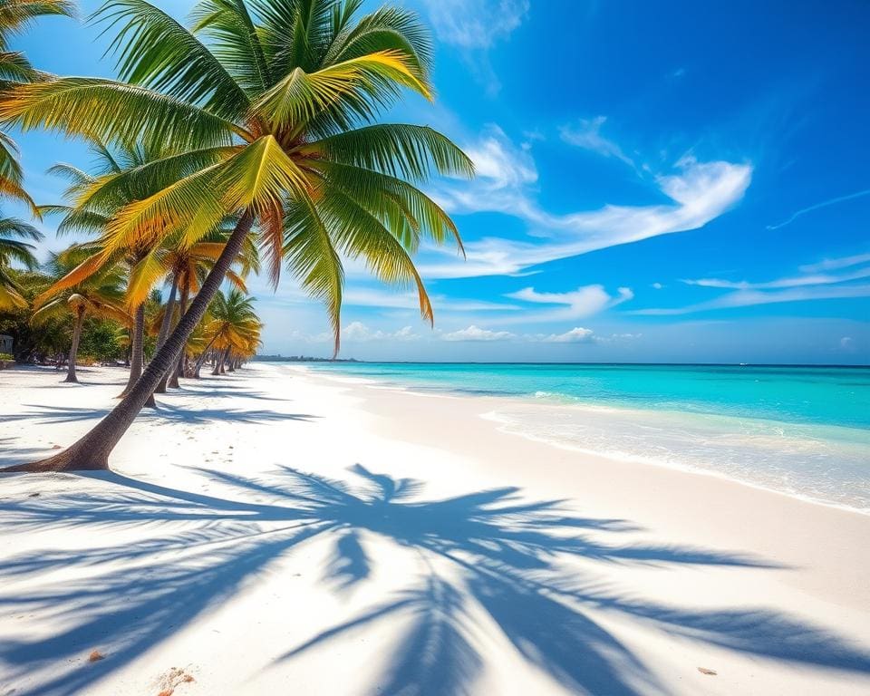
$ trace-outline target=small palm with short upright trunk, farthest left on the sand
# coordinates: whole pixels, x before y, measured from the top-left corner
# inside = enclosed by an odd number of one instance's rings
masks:
[[[52,254],[47,264],[48,271],[55,279],[63,278],[81,263],[82,255],[87,253],[86,249],[73,246],[60,254]],[[34,301],[36,311],[31,321],[39,324],[59,314],[73,315],[73,343],[64,382],[78,382],[75,360],[85,316],[102,316],[116,319],[123,324],[131,322],[130,315],[124,311],[122,275],[115,268],[104,268],[100,273],[90,275],[72,287],[54,289],[56,285],[55,282],[51,289]]]

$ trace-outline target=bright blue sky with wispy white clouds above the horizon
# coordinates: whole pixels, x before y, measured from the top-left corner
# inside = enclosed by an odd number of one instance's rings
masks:
[[[343,357],[870,362],[870,5],[405,4],[436,37],[438,97],[389,120],[475,160],[475,180],[429,187],[468,256],[418,259],[434,330],[349,266]],[[112,74],[94,27],[48,19],[18,45],[53,73]],[[62,189],[45,169],[89,160],[19,143],[41,203]],[[265,353],[329,353],[292,278],[252,288]]]

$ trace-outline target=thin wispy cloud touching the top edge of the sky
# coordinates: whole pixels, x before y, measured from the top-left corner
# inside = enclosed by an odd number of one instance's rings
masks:
[[[486,49],[523,23],[528,0],[423,0],[430,21],[445,43]]]

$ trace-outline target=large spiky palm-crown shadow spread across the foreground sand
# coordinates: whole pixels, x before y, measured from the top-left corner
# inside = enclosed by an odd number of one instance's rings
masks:
[[[82,577],[63,585],[42,583],[25,594],[0,591],[0,611],[38,612],[67,626],[51,637],[24,635],[0,645],[0,662],[13,677],[10,682],[35,674],[33,692],[82,692],[203,612],[230,601],[240,585],[315,538],[332,549],[322,571],[328,586],[339,594],[353,592],[376,569],[377,556],[367,548],[373,536],[419,555],[420,575],[408,577],[401,592],[382,603],[296,645],[275,665],[298,659],[315,645],[396,620],[406,628],[386,656],[377,689],[468,693],[486,662],[473,639],[474,617],[482,615],[523,659],[568,690],[663,691],[640,658],[594,618],[606,612],[760,658],[870,672],[866,652],[786,615],[642,602],[565,572],[564,565],[574,558],[662,569],[775,567],[759,558],[683,546],[607,544],[598,539],[618,537],[634,527],[621,519],[576,517],[562,501],[528,501],[517,488],[425,499],[420,481],[374,473],[360,464],[351,468],[353,484],[288,467],[264,478],[197,470],[227,495],[100,473],[82,477],[105,484],[86,496],[0,501],[0,512],[19,531],[131,525],[162,531],[184,525],[184,531],[132,546],[41,550],[0,561],[4,585],[15,581],[31,586],[61,567],[72,566]],[[111,647],[106,660],[76,661],[107,636]],[[63,662],[66,667],[58,676],[57,664]],[[54,676],[40,680],[38,675],[50,667]]]

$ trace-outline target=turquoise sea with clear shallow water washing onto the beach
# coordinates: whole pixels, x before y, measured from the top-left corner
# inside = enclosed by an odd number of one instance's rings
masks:
[[[506,430],[870,513],[870,368],[323,363],[417,391],[514,397]]]

